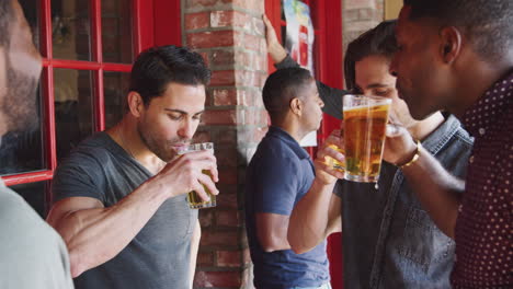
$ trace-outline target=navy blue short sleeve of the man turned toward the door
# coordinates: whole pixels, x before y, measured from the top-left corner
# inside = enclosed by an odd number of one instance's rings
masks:
[[[262,159],[254,174],[255,212],[289,216],[298,195],[300,170],[296,160],[280,155]]]

